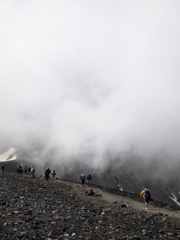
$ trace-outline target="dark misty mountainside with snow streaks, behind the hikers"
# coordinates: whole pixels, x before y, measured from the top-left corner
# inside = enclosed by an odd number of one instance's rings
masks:
[[[17,152],[16,152],[17,154]],[[139,194],[144,187],[152,191],[153,199],[171,206],[180,206],[180,167],[171,166],[170,162],[153,161],[150,163],[137,159],[121,162],[119,159],[106,162],[105,166],[93,167],[91,162],[73,160],[66,163],[61,161],[33,161],[21,153],[13,161],[5,161],[6,171],[16,172],[18,164],[33,166],[36,175],[44,175],[45,168],[56,170],[57,178],[79,182],[80,174],[91,173],[92,184],[100,185],[119,192]],[[23,156],[23,157],[22,157]]]

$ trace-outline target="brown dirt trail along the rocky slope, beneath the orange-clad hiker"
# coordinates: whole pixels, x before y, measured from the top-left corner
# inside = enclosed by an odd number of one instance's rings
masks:
[[[61,180],[58,180],[61,181]],[[71,183],[71,182],[66,182],[66,181],[61,181],[62,184],[66,184],[67,186],[71,187],[71,192],[72,194],[77,194],[79,197],[83,197],[85,200],[90,200],[93,201],[94,203],[98,203],[98,202],[104,202],[107,203],[109,205],[122,205],[125,204],[127,206],[129,206],[130,208],[133,208],[137,211],[145,211],[145,205],[144,202],[138,202],[135,201],[133,199],[124,197],[124,196],[120,196],[120,195],[115,195],[115,194],[111,194],[111,193],[107,193],[99,188],[96,187],[88,187],[87,185],[84,185],[82,187],[81,184],[78,183]],[[101,197],[95,197],[95,196],[85,196],[83,193],[85,193],[86,191],[89,191],[90,189],[92,189],[96,194],[101,195]],[[155,214],[155,213],[162,213],[163,215],[168,215],[169,217],[175,217],[175,218],[180,218],[180,211],[170,211],[164,208],[158,208],[158,207],[154,207],[153,204],[149,205],[149,208],[147,210],[148,213],[150,214]]]

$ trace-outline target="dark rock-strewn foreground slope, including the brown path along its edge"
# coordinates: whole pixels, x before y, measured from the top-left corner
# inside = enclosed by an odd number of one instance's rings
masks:
[[[0,239],[180,239],[180,212],[59,179],[0,174]]]

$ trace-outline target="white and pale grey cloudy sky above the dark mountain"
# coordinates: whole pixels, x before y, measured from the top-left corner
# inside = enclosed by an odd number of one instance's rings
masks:
[[[0,0],[0,141],[180,156],[180,1]]]

